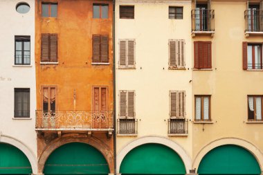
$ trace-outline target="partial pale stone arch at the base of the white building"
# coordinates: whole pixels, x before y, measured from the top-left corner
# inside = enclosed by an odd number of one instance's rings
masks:
[[[28,158],[33,174],[37,174],[37,156],[35,156],[34,152],[29,147],[27,147],[24,142],[17,140],[17,138],[13,138],[11,136],[6,135],[0,136],[0,143],[1,142],[8,143],[21,150]]]

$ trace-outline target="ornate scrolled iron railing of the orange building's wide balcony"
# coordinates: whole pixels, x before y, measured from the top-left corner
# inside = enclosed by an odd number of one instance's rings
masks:
[[[114,111],[36,111],[37,130],[113,129]]]

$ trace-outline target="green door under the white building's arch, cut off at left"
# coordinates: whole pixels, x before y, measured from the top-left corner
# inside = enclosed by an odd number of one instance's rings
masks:
[[[20,149],[0,143],[0,174],[32,174],[32,168]]]

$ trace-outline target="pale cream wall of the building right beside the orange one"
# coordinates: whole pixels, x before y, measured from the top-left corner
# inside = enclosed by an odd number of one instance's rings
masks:
[[[119,5],[134,5],[135,19],[119,19]],[[169,6],[183,6],[183,19],[169,19]],[[119,91],[135,90],[138,119],[138,136],[117,136],[117,155],[129,142],[149,135],[171,139],[192,155],[192,134],[167,136],[170,90],[185,91],[186,118],[192,113],[190,10],[190,1],[116,2],[116,114],[118,118]],[[136,39],[136,69],[118,68],[119,39]],[[185,39],[186,70],[168,70],[168,39]],[[191,122],[188,128],[192,133]]]

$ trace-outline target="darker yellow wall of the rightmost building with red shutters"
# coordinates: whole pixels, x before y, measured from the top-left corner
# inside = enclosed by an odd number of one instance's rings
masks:
[[[213,140],[242,138],[263,150],[263,123],[247,124],[247,95],[263,95],[263,72],[243,71],[242,42],[263,42],[262,35],[244,35],[246,1],[212,1],[215,36],[196,36],[194,41],[212,42],[212,71],[192,71],[194,95],[211,95],[213,124],[193,124],[193,158]],[[192,55],[192,67],[194,66]],[[204,130],[203,130],[204,129]],[[225,142],[224,144],[228,144]]]

